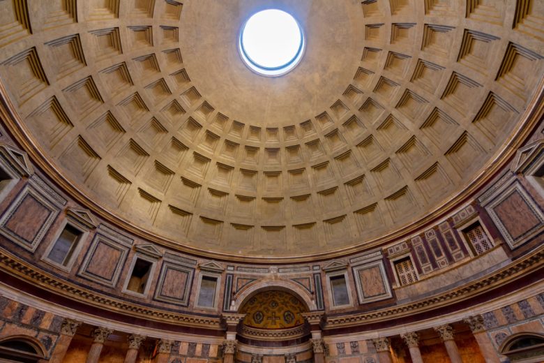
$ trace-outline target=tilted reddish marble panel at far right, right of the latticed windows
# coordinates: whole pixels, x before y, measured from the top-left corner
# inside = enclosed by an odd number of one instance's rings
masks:
[[[494,212],[513,239],[535,228],[540,221],[518,191],[514,191],[505,200],[494,207]]]

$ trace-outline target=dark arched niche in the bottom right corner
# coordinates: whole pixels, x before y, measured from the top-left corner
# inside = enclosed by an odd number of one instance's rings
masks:
[[[499,351],[511,363],[536,363],[544,361],[544,335],[522,332],[509,336]]]

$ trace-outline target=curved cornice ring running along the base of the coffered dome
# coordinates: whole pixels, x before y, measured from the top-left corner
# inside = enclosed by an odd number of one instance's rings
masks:
[[[474,178],[469,182],[466,188],[460,193],[453,195],[451,200],[445,202],[443,205],[432,210],[423,218],[401,226],[397,230],[394,230],[387,235],[371,239],[364,242],[354,241],[353,246],[349,246],[344,249],[337,249],[333,251],[326,251],[323,253],[315,253],[312,255],[294,255],[294,256],[246,256],[246,255],[234,255],[230,253],[222,253],[218,251],[207,251],[198,249],[195,246],[189,246],[188,244],[181,244],[179,241],[174,241],[166,237],[157,235],[156,233],[139,227],[135,223],[131,223],[114,212],[106,209],[105,207],[98,205],[91,195],[86,194],[82,188],[78,187],[72,180],[62,175],[59,168],[57,168],[52,160],[47,156],[45,151],[38,145],[36,140],[31,138],[31,133],[24,125],[20,115],[17,113],[16,107],[10,98],[7,96],[3,81],[0,80],[0,117],[3,119],[3,124],[20,147],[29,154],[29,157],[36,163],[38,167],[45,172],[45,174],[52,179],[52,181],[60,186],[70,197],[80,202],[84,207],[90,209],[101,218],[105,218],[107,221],[114,223],[128,232],[131,232],[139,237],[148,239],[151,242],[155,242],[162,246],[166,246],[176,251],[188,253],[190,255],[198,255],[199,257],[211,258],[222,261],[232,262],[269,262],[269,263],[296,263],[296,262],[310,262],[317,260],[327,260],[332,258],[338,258],[340,256],[352,255],[369,249],[374,249],[378,246],[391,243],[397,239],[410,235],[416,232],[420,228],[425,228],[430,223],[438,221],[439,218],[443,218],[452,209],[459,207],[462,203],[467,202],[469,198],[473,197],[486,183],[488,183],[497,172],[508,166],[508,162],[515,156],[517,149],[519,149],[523,143],[530,137],[534,128],[538,126],[541,121],[541,117],[544,110],[544,79],[541,79],[537,87],[538,91],[535,92],[533,98],[527,105],[524,114],[517,121],[517,126],[512,131],[511,138],[505,140],[504,146],[497,152],[496,156],[485,165],[484,168],[475,173]],[[359,243],[356,243],[359,242]]]

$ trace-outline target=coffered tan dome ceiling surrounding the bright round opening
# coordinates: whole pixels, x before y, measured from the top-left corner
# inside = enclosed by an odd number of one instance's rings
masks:
[[[497,170],[540,90],[541,44],[501,6],[490,23],[460,6],[274,3],[307,46],[262,77],[237,39],[271,3],[144,3],[89,3],[70,27],[42,15],[4,45],[2,77],[59,184],[183,251],[307,258],[391,240]]]

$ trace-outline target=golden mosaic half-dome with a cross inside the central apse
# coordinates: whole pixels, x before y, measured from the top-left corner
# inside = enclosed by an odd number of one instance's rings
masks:
[[[261,329],[285,329],[304,323],[301,313],[307,311],[304,304],[284,291],[259,292],[242,307],[243,320],[249,327]]]

